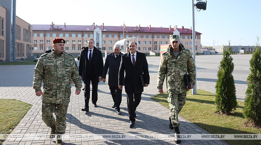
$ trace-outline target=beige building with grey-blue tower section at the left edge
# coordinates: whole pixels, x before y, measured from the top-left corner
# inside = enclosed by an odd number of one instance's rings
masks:
[[[16,0],[0,0],[0,61],[32,54],[32,25],[16,16]]]

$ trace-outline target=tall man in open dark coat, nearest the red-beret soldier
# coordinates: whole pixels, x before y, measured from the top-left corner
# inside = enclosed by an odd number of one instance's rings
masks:
[[[88,39],[88,47],[82,50],[79,60],[79,76],[84,82],[84,101],[85,106],[82,111],[89,111],[90,99],[90,82],[92,84],[91,102],[94,107],[97,107],[98,100],[98,83],[101,81],[103,70],[103,58],[101,51],[94,45],[93,39]]]

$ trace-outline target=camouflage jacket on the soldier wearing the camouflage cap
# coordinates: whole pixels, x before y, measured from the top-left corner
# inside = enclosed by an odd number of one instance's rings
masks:
[[[190,51],[179,44],[179,55],[173,54],[171,45],[168,50],[162,53],[160,67],[158,71],[158,89],[162,89],[166,76],[168,94],[179,94],[187,92],[185,87],[184,75],[189,74],[190,84],[195,84],[196,73],[193,58]]]

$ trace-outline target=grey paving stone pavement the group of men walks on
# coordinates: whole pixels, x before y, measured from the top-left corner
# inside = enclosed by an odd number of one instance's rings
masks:
[[[236,95],[244,100],[247,87],[246,78],[249,71],[250,55],[232,55],[234,58],[234,79]],[[196,56],[197,89],[215,92],[217,70],[222,55]],[[111,106],[113,100],[107,82],[98,85],[98,107],[90,103],[90,111],[82,112],[84,107],[83,91],[80,95],[72,93],[67,112],[66,134],[173,134],[169,129],[169,109],[153,101],[152,96],[158,94],[157,73],[159,57],[147,57],[150,73],[149,87],[144,89],[142,100],[137,107],[137,120],[134,128],[129,128],[127,98],[125,90],[122,94],[121,115],[118,115]],[[76,61],[77,62],[77,61]],[[78,62],[77,62],[78,63]],[[33,104],[33,107],[22,118],[11,134],[48,134],[50,128],[46,127],[41,119],[41,99],[35,95],[32,88],[34,65],[1,65],[0,66],[0,98],[15,98]],[[107,75],[108,78],[108,75]],[[108,80],[108,79],[107,79]],[[165,83],[164,83],[165,84]],[[166,91],[166,86],[164,86]],[[72,86],[72,92],[75,87]],[[181,134],[210,134],[204,129],[191,123],[185,118],[181,121]],[[175,144],[173,140],[64,140],[65,144]],[[3,144],[55,144],[53,140],[5,140]],[[222,140],[182,140],[182,145],[187,144],[227,144]]]

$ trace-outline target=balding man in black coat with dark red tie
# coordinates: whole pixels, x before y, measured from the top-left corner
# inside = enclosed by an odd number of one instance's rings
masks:
[[[132,41],[129,44],[130,52],[122,55],[119,68],[119,88],[122,90],[123,77],[125,70],[125,92],[127,94],[127,107],[131,123],[129,127],[134,127],[136,117],[136,108],[140,104],[143,85],[140,75],[144,74],[144,82],[147,87],[149,84],[149,69],[147,59],[144,53],[137,51],[137,43]]]

